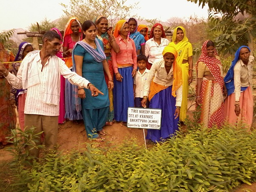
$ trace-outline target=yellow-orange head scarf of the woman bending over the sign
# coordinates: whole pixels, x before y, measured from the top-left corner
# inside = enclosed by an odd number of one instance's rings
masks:
[[[180,87],[180,85],[182,85],[183,80],[182,80],[182,70],[180,68],[180,66],[177,65],[176,59],[177,59],[177,50],[172,47],[172,46],[166,46],[163,49],[163,56],[166,53],[172,53],[174,55],[175,61],[173,62],[172,66],[173,66],[173,84],[172,84],[172,96],[176,97],[176,90]]]

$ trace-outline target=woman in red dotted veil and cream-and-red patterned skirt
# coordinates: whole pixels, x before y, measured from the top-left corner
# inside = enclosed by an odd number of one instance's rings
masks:
[[[212,128],[224,123],[224,97],[227,90],[220,58],[212,41],[205,41],[201,56],[196,64],[196,104],[201,107],[199,122]]]

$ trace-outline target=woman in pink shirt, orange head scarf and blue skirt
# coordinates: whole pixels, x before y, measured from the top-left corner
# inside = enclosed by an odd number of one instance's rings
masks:
[[[116,23],[115,41],[120,51],[111,49],[114,68],[113,105],[114,119],[127,122],[127,109],[134,107],[133,77],[137,72],[137,53],[134,41],[128,37],[129,24],[125,20]]]

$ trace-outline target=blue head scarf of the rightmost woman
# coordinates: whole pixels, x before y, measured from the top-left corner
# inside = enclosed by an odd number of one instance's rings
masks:
[[[229,96],[230,94],[234,93],[235,91],[235,85],[234,85],[234,67],[237,63],[237,61],[239,61],[239,54],[242,48],[247,48],[250,51],[250,48],[243,45],[241,47],[239,47],[235,53],[235,58],[231,63],[230,69],[227,71],[227,75],[224,78],[224,82],[227,88],[227,95]],[[241,87],[241,91],[244,91],[247,87]]]

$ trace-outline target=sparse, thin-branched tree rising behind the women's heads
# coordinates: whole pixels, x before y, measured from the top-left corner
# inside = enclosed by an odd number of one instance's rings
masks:
[[[70,0],[69,5],[61,3],[64,13],[69,17],[78,17],[81,22],[94,21],[99,15],[108,18],[111,26],[119,19],[131,16],[132,11],[138,9],[137,3],[127,5],[127,0]],[[136,15],[133,15],[134,17]]]

